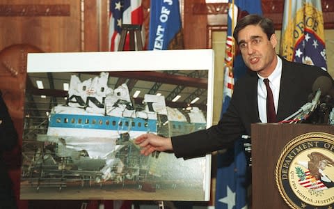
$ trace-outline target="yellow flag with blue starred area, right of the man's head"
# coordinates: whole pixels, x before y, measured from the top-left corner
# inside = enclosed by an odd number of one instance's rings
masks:
[[[326,70],[324,20],[320,0],[285,0],[280,54],[289,61]]]

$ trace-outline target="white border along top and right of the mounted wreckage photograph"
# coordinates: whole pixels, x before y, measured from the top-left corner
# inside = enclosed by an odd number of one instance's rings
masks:
[[[208,70],[207,127],[212,125],[214,88],[214,51],[180,49],[127,52],[29,53],[29,72],[100,72],[150,70]],[[211,186],[211,155],[206,155],[205,201]]]

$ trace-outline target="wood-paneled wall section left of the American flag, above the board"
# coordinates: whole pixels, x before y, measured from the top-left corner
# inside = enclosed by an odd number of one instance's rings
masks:
[[[43,52],[108,50],[107,0],[2,0],[0,49],[29,44]]]

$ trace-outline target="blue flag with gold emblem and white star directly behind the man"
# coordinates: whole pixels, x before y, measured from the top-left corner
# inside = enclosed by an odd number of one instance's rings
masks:
[[[225,49],[223,106],[221,117],[228,108],[233,93],[234,81],[244,76],[246,65],[241,54],[234,49],[236,43],[232,37],[237,18],[248,14],[262,15],[260,0],[229,0],[228,32]],[[217,154],[216,203],[217,209],[248,208],[248,189],[250,173],[244,149],[244,140],[238,139],[234,148]]]

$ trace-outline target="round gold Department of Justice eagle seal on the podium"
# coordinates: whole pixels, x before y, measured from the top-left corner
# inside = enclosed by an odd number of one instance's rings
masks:
[[[276,185],[291,208],[334,208],[334,135],[302,134],[289,141],[276,164]]]

